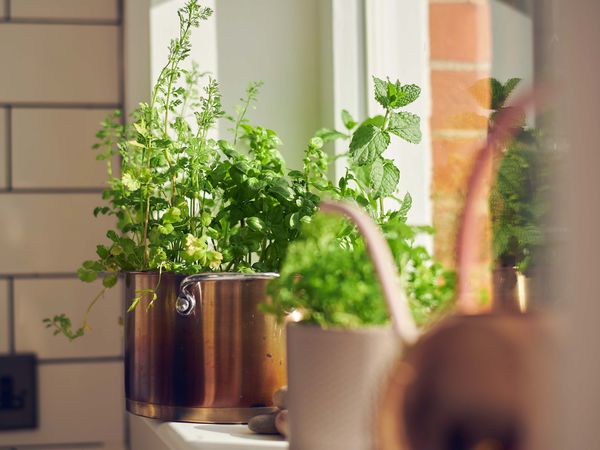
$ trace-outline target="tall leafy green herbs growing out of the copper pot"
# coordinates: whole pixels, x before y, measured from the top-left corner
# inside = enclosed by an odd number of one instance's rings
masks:
[[[275,271],[298,234],[288,224],[316,208],[314,195],[288,177],[277,134],[248,123],[261,83],[251,83],[226,116],[216,80],[200,95],[197,67],[182,67],[192,29],[212,11],[190,0],[178,14],[179,36],[150,103],[125,125],[115,113],[98,133],[109,187],[108,205],[94,213],[116,217],[117,227],[98,246],[98,259],[79,270],[83,281],[128,270]],[[211,137],[221,117],[232,123],[230,141]],[[110,167],[114,154],[122,160],[119,177]]]

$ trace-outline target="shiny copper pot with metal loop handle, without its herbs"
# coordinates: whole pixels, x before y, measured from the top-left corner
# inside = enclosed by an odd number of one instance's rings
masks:
[[[272,394],[286,384],[284,333],[258,306],[276,276],[128,273],[128,304],[142,301],[125,313],[127,410],[207,423],[274,410]]]

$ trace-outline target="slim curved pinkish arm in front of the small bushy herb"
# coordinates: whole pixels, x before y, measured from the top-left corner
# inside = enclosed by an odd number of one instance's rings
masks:
[[[379,227],[362,210],[348,203],[325,200],[321,202],[320,208],[326,213],[346,216],[357,226],[375,267],[375,273],[392,317],[394,330],[404,344],[410,345],[415,342],[419,332],[410,312],[408,298],[398,277],[396,262]]]

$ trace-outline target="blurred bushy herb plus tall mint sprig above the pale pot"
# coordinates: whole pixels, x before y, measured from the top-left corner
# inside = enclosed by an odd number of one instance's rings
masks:
[[[421,139],[419,117],[398,108],[414,101],[420,89],[374,78],[376,100],[383,116],[368,118],[360,125],[347,111],[342,122],[352,132],[350,166],[334,185],[324,178],[328,158],[323,140],[348,138],[336,130],[319,130],[305,157],[304,182],[317,188],[320,196],[359,204],[381,226],[396,260],[401,281],[408,293],[418,324],[424,325],[441,313],[454,296],[454,274],[436,263],[426,248],[415,244],[418,233],[428,228],[407,225],[412,205],[409,194],[395,197],[400,171],[383,155],[396,135],[408,142]],[[395,199],[397,209],[386,212],[384,200]],[[321,327],[359,327],[384,324],[389,320],[364,242],[346,220],[317,215],[303,226],[301,237],[290,244],[280,277],[270,284],[272,301],[265,311],[283,320],[293,310],[303,321]]]

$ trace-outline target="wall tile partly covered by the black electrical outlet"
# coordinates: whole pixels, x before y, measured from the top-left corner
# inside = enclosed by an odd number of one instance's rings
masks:
[[[0,447],[4,443],[17,448],[103,442],[114,445],[123,436],[124,421],[118,413],[122,409],[122,389],[120,385],[113,386],[112,380],[122,378],[123,366],[119,362],[41,364],[39,427],[31,432],[3,431]]]

